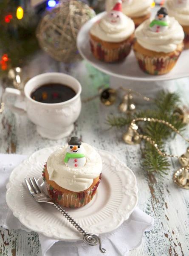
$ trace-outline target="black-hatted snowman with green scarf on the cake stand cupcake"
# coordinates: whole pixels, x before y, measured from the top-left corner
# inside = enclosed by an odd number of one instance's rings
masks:
[[[155,15],[155,19],[150,23],[150,29],[153,32],[162,32],[168,29],[169,26],[169,16],[165,7],[161,9]]]

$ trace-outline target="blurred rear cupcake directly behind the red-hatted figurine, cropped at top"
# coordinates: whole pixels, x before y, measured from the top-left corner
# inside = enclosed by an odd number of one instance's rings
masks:
[[[116,0],[106,0],[106,11],[110,12]],[[144,20],[150,18],[153,0],[122,0],[124,15],[132,18],[137,28]]]

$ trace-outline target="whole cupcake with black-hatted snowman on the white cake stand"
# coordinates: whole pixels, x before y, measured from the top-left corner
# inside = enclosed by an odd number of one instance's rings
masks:
[[[162,7],[155,19],[146,20],[135,30],[133,50],[142,71],[163,75],[175,66],[182,50],[184,32],[174,17]]]

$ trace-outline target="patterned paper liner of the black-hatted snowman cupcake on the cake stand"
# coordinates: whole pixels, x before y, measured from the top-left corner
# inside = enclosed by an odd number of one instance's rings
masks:
[[[151,75],[163,75],[169,73],[175,66],[181,52],[176,52],[172,55],[149,57],[139,52],[135,52],[138,65],[142,71]]]

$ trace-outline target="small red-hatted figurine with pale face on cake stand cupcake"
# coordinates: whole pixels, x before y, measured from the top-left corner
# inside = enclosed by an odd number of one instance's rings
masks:
[[[112,25],[122,25],[122,21],[125,20],[125,15],[122,12],[122,1],[117,0],[117,3],[113,9],[104,17],[108,23]]]

